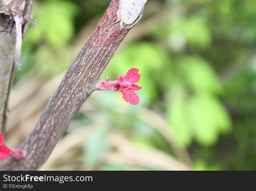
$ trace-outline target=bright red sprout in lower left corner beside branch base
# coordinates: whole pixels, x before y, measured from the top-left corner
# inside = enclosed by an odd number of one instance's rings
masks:
[[[3,134],[0,134],[0,160],[8,158],[9,156],[20,160],[24,158],[24,153],[21,150],[13,150],[3,144]]]

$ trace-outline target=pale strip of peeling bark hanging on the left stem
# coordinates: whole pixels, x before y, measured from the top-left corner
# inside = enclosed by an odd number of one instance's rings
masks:
[[[15,44],[15,54],[14,54],[14,64],[17,69],[19,69],[19,57],[21,54],[22,45],[22,18],[15,16],[13,17],[16,25],[16,44]]]

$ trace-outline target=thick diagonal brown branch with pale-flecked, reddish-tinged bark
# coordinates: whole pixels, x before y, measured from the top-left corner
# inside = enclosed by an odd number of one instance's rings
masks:
[[[146,0],[112,0],[83,48],[73,61],[61,84],[50,98],[33,131],[19,149],[25,151],[25,159],[3,160],[1,167],[8,170],[36,170],[49,157],[54,146],[67,130],[74,115],[86,100],[97,90],[99,76],[109,63],[117,47],[131,27],[138,22]],[[127,4],[127,2],[125,2]],[[134,6],[140,6],[140,11]],[[122,9],[129,9],[123,10]],[[125,15],[133,22],[125,23]],[[129,19],[130,21],[130,19]],[[121,64],[121,63],[120,63]]]

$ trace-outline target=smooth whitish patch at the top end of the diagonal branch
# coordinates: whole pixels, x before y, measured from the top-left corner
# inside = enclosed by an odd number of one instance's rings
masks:
[[[146,2],[147,0],[120,0],[121,25],[136,24],[141,18],[141,12]]]

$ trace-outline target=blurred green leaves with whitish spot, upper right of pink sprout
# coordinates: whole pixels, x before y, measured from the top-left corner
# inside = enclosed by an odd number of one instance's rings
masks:
[[[173,51],[181,51],[186,44],[198,48],[206,48],[211,44],[211,29],[205,17],[199,15],[188,18],[171,16],[160,28],[153,28],[152,34],[167,39]]]

